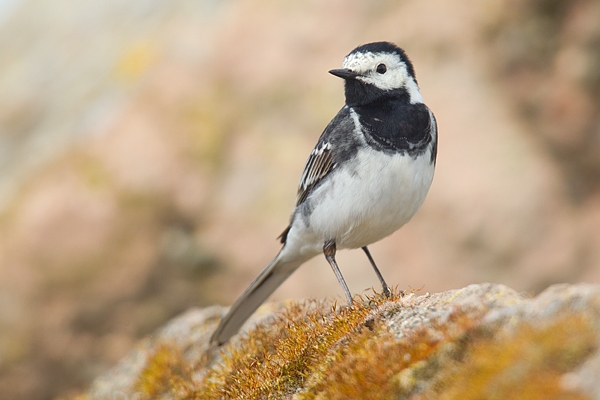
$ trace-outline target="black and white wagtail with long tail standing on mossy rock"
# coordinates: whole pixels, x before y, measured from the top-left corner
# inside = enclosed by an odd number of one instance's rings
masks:
[[[424,103],[413,64],[390,42],[363,44],[342,68],[345,104],[327,125],[302,172],[282,247],[220,320],[210,338],[221,346],[304,262],[323,254],[353,297],[337,265],[341,249],[362,249],[381,282],[368,245],[406,224],[431,186],[437,158],[437,122]]]

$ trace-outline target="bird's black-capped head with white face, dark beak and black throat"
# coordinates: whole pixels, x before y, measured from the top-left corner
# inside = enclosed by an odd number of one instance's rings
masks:
[[[346,104],[360,106],[383,98],[422,103],[415,70],[404,50],[389,42],[364,44],[352,50],[341,69],[329,73],[345,80]]]

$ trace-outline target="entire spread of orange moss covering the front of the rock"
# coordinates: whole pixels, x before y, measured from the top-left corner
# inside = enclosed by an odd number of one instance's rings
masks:
[[[375,296],[352,307],[292,304],[225,346],[207,370],[198,364],[204,374],[196,380],[181,351],[162,345],[138,389],[145,398],[188,400],[585,398],[561,379],[595,349],[589,316],[482,328],[485,310],[457,308],[398,337],[385,315],[402,307],[399,298]]]

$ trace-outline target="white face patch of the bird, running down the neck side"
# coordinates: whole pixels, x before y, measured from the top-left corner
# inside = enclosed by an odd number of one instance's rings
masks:
[[[385,65],[385,73],[377,72],[379,64]],[[408,74],[406,63],[397,54],[353,53],[344,59],[342,67],[360,74],[356,79],[382,90],[406,88],[413,104],[424,102],[419,86]]]

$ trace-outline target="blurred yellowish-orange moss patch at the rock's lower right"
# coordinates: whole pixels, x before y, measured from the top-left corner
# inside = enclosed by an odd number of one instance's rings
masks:
[[[419,398],[586,399],[566,390],[561,378],[595,349],[591,320],[568,315],[545,327],[522,322],[512,332],[473,337],[464,360],[447,363],[434,390]]]

